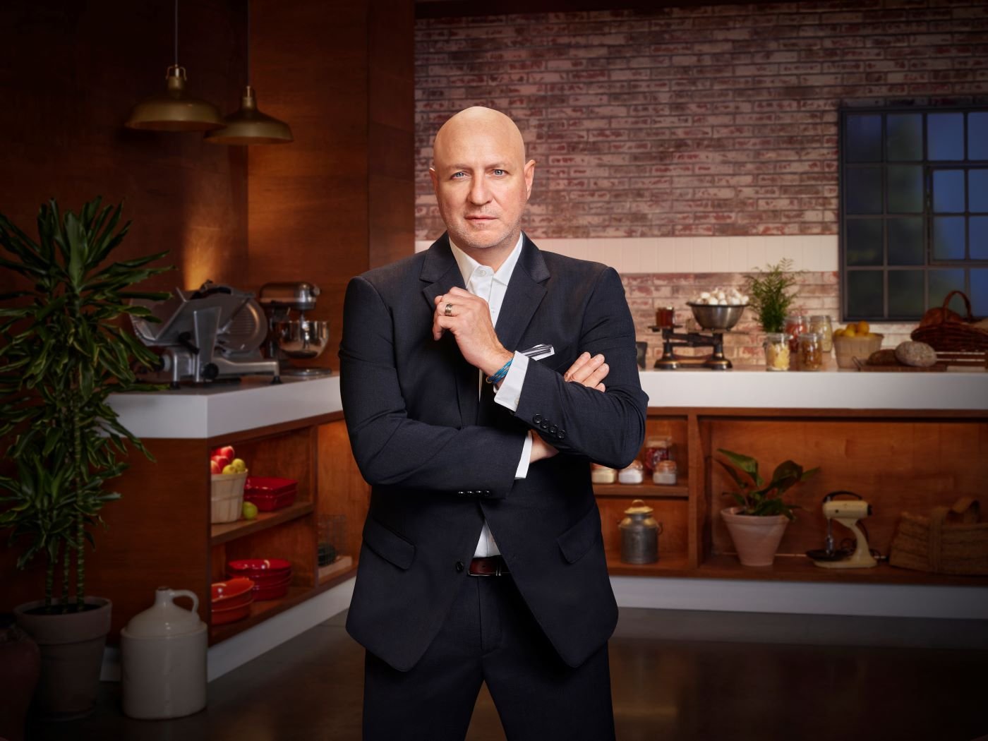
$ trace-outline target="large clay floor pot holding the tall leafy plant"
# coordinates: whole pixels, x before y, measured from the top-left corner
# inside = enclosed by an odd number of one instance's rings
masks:
[[[18,624],[41,648],[41,682],[34,709],[49,720],[88,715],[96,707],[103,649],[110,632],[110,600],[85,598],[93,610],[65,615],[32,615],[43,601],[14,608]]]

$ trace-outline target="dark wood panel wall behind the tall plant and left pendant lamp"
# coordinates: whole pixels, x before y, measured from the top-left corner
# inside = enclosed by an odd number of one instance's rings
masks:
[[[133,221],[124,259],[171,251],[178,270],[156,288],[236,282],[247,259],[246,152],[196,132],[124,128],[134,103],[165,89],[174,5],[9,0],[0,28],[0,211],[36,236],[47,199],[78,210],[102,195]],[[242,3],[181,5],[179,62],[194,95],[229,110],[246,51]],[[0,272],[0,289],[11,281]]]

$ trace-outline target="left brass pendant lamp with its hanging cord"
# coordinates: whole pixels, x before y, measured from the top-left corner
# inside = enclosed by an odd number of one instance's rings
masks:
[[[211,103],[186,91],[185,67],[179,66],[179,2],[175,0],[175,64],[165,75],[168,88],[133,107],[124,125],[155,131],[208,131],[222,128],[223,120]]]

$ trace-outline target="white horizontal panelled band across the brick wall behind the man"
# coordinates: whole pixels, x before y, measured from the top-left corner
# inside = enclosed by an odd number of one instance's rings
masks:
[[[419,240],[415,251],[432,242]],[[622,275],[634,273],[748,273],[792,260],[792,270],[836,271],[837,236],[643,237],[535,239],[543,250],[606,263]]]

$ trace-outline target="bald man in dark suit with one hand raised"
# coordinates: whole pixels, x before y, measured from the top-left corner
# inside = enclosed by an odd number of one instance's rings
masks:
[[[624,292],[522,232],[535,161],[507,116],[453,116],[429,173],[447,232],[344,307],[371,484],[347,619],[364,737],[462,739],[486,683],[512,741],[607,741],[617,605],[590,462],[623,467],[644,436]]]

